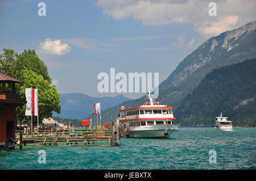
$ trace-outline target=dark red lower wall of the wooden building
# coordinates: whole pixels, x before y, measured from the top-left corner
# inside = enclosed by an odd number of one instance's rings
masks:
[[[16,117],[14,105],[0,105],[2,113],[0,114],[0,142],[6,141],[6,121],[13,121],[13,138],[15,140]]]

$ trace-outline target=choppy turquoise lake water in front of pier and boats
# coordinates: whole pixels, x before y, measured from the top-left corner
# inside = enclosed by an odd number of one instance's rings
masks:
[[[212,149],[217,163],[209,163]],[[179,128],[169,139],[121,138],[113,147],[23,146],[1,150],[0,169],[256,169],[256,128]]]

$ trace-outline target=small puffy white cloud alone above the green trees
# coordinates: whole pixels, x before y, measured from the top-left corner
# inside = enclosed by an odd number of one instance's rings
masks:
[[[67,43],[61,42],[61,40],[46,39],[40,42],[40,52],[51,55],[63,55],[69,53],[71,47]]]

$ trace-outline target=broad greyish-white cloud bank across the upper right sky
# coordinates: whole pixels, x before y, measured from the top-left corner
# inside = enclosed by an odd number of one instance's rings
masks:
[[[114,19],[133,18],[147,26],[193,23],[204,38],[238,28],[256,17],[255,0],[216,0],[217,16],[209,16],[205,0],[98,0],[97,6]]]

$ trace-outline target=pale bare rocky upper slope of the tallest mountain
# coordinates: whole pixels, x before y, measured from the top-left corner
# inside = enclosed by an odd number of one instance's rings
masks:
[[[184,78],[201,68],[207,62],[221,57],[232,49],[239,49],[241,45],[246,43],[243,40],[246,37],[253,35],[251,37],[255,41],[255,28],[256,22],[247,23],[240,28],[226,31],[205,41],[205,43],[180,62],[171,75],[159,85],[159,89],[177,86]]]

